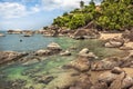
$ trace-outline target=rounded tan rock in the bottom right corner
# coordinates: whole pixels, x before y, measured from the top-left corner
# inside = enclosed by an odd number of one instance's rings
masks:
[[[126,76],[122,81],[122,89],[129,89],[133,86],[133,78]]]

